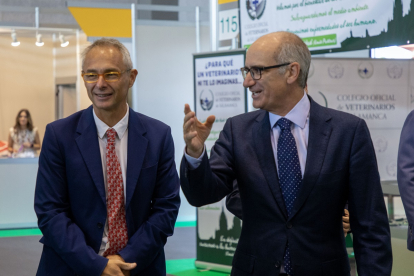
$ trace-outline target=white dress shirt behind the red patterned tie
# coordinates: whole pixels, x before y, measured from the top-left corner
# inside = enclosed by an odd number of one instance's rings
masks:
[[[106,181],[106,145],[107,135],[106,131],[110,128],[107,124],[102,122],[93,111],[93,119],[95,120],[96,130],[98,132],[99,150],[101,153],[102,171],[105,183],[105,194],[108,194],[108,182]],[[124,203],[126,199],[126,168],[127,168],[127,153],[128,153],[128,120],[129,120],[129,106],[127,104],[127,112],[125,116],[112,128],[115,129],[117,135],[115,137],[115,153],[121,165],[122,180],[124,184]],[[102,236],[102,243],[99,249],[99,255],[103,255],[108,243],[108,219],[105,222],[104,233]]]

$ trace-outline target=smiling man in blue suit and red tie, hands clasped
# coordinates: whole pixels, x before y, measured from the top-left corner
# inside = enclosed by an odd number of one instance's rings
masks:
[[[165,275],[180,206],[170,128],[128,107],[138,72],[100,39],[83,53],[92,106],[46,128],[35,192],[37,275]]]

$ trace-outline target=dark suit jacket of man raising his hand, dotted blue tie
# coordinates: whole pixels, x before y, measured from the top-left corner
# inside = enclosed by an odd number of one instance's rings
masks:
[[[365,122],[311,99],[302,187],[287,217],[270,140],[269,114],[227,120],[201,165],[181,163],[181,187],[194,206],[233,190],[237,179],[243,226],[232,275],[278,275],[289,242],[295,276],[349,275],[342,228],[346,201],[359,275],[390,275],[391,238],[377,162]]]

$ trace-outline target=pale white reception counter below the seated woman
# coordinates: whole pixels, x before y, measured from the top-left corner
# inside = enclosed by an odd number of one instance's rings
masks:
[[[38,162],[0,159],[0,229],[37,227],[33,204]]]

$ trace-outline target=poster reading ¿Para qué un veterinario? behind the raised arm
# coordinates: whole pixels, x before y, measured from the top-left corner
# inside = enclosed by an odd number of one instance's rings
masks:
[[[195,112],[204,122],[215,115],[207,153],[218,139],[226,120],[246,112],[246,89],[240,68],[245,50],[194,55]],[[225,199],[197,208],[196,266],[229,272],[241,233],[241,221],[225,207]],[[204,264],[204,266],[200,266]]]

